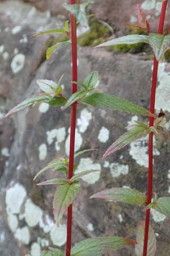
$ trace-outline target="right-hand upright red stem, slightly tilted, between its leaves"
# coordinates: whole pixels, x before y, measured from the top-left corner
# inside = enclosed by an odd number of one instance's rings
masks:
[[[160,14],[160,21],[159,21],[159,29],[158,34],[163,34],[163,27],[164,27],[164,20],[165,20],[165,13],[167,10],[167,3],[168,0],[163,2],[162,11]],[[150,100],[150,112],[154,114],[155,112],[155,96],[156,96],[156,84],[157,84],[157,77],[158,77],[158,65],[159,62],[156,60],[154,56],[154,70],[152,74],[152,88],[151,88],[151,100]],[[150,126],[154,125],[154,117],[150,117]],[[147,194],[147,204],[151,203],[152,200],[152,178],[153,178],[153,136],[154,133],[149,134],[149,141],[148,141],[148,194]],[[147,245],[148,245],[148,232],[150,226],[150,209],[146,212],[146,224],[145,224],[145,240],[143,246],[143,256],[147,256]]]

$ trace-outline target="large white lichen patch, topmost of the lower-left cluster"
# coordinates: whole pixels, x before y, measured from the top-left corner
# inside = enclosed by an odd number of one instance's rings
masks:
[[[7,213],[19,214],[26,195],[25,188],[19,183],[9,188],[5,196]]]

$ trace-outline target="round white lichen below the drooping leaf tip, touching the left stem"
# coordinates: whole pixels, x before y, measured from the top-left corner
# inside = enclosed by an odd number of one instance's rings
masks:
[[[53,245],[59,247],[64,245],[67,241],[67,226],[65,224],[61,224],[57,228],[57,226],[54,225],[50,231],[50,238],[53,242]]]

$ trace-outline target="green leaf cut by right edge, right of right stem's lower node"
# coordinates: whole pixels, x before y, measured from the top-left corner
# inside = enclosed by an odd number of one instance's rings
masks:
[[[153,208],[165,216],[170,217],[170,197],[160,197]]]

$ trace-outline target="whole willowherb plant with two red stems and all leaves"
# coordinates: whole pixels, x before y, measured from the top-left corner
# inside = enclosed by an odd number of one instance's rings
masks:
[[[134,44],[134,43],[147,43],[150,44],[154,51],[154,71],[152,76],[152,88],[151,88],[151,101],[150,110],[137,106],[133,102],[116,97],[112,94],[100,93],[95,89],[97,81],[99,80],[99,73],[97,71],[91,72],[83,82],[78,82],[77,79],[77,47],[76,47],[76,24],[81,23],[83,26],[87,26],[88,19],[86,15],[86,7],[94,3],[94,1],[88,1],[84,3],[75,2],[70,0],[70,5],[64,4],[63,6],[71,13],[71,28],[69,27],[69,21],[65,22],[65,26],[59,30],[50,30],[40,32],[36,35],[42,35],[46,33],[64,33],[68,39],[64,42],[55,44],[48,48],[46,51],[46,59],[49,60],[50,55],[61,45],[71,44],[72,48],[72,63],[73,63],[73,93],[70,98],[66,98],[63,94],[62,86],[60,85],[62,77],[58,82],[51,80],[37,80],[37,84],[42,90],[42,94],[37,97],[29,98],[23,101],[15,108],[11,109],[6,114],[6,117],[19,110],[35,106],[41,102],[45,102],[51,106],[62,106],[62,110],[71,108],[71,132],[70,132],[70,155],[69,158],[57,158],[48,164],[48,166],[42,168],[34,180],[44,173],[46,170],[53,170],[54,172],[62,172],[65,177],[56,178],[51,180],[45,180],[37,185],[57,185],[57,189],[54,195],[53,208],[54,218],[56,224],[59,225],[63,214],[67,210],[67,247],[66,256],[100,256],[109,251],[114,251],[122,246],[135,245],[135,253],[137,256],[154,256],[156,251],[156,237],[154,230],[150,226],[150,209],[154,208],[165,216],[170,216],[170,197],[157,197],[154,193],[152,199],[152,175],[153,175],[153,136],[159,135],[160,131],[164,131],[165,139],[167,139],[166,119],[163,110],[160,110],[159,114],[155,113],[155,93],[156,82],[158,75],[158,64],[164,56],[165,51],[170,45],[170,35],[168,34],[169,28],[163,34],[163,26],[165,19],[165,11],[167,9],[167,1],[161,1],[162,12],[160,15],[160,23],[158,34],[150,32],[150,24],[148,23],[145,14],[137,5],[138,21],[135,24],[127,24],[128,27],[145,32],[146,35],[128,35],[121,38],[109,40],[97,47],[107,47],[117,44]],[[81,88],[81,90],[77,90]],[[144,115],[150,118],[149,123],[136,122],[133,126],[128,127],[128,131],[121,135],[120,138],[114,142],[108,150],[104,153],[103,158],[112,154],[117,150],[127,146],[136,139],[149,136],[149,166],[148,166],[148,191],[146,193],[139,192],[136,189],[131,188],[111,188],[96,193],[91,196],[91,199],[100,198],[108,201],[126,203],[143,207],[146,212],[146,221],[141,222],[138,227],[137,241],[130,240],[129,238],[122,237],[96,237],[89,238],[82,242],[77,243],[71,249],[71,225],[72,225],[72,204],[75,196],[80,191],[80,177],[88,175],[91,172],[97,172],[99,170],[83,170],[80,174],[74,174],[76,165],[74,159],[87,151],[94,149],[88,149],[80,151],[74,154],[75,143],[75,127],[76,127],[76,108],[79,104],[88,104],[98,108],[111,108],[114,110],[127,112],[136,115]],[[42,256],[63,256],[63,252],[59,249],[49,247],[48,251],[42,251]]]

